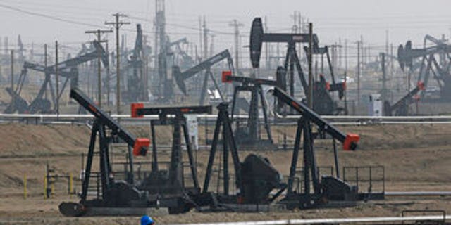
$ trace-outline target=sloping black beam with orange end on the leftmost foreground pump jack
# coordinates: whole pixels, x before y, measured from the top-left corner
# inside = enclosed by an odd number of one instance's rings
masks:
[[[117,134],[119,138],[123,139],[129,146],[133,147],[133,155],[146,155],[149,148],[150,140],[145,138],[136,138],[124,129],[121,124],[118,124],[103,110],[101,110],[88,96],[86,96],[80,89],[74,88],[70,90],[70,98],[75,99],[83,108],[92,113],[99,122],[105,124],[109,129]]]

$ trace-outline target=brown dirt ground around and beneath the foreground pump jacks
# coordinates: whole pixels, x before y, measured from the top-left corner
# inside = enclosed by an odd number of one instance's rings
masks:
[[[345,126],[342,131],[360,134],[359,150],[340,151],[340,167],[381,165],[385,168],[385,191],[451,191],[451,125],[373,125]],[[147,127],[132,127],[132,133],[144,136]],[[211,129],[212,130],[212,129]],[[203,130],[201,129],[201,134]],[[295,127],[273,127],[276,141],[287,133],[292,140]],[[170,140],[171,129],[157,132],[160,144]],[[203,136],[203,135],[201,135]],[[0,224],[138,224],[137,217],[63,217],[59,203],[78,200],[67,194],[67,180],[55,184],[54,198],[44,200],[45,165],[56,174],[80,174],[81,153],[87,152],[89,129],[85,125],[25,125],[0,124]],[[201,143],[203,143],[203,139]],[[316,141],[318,164],[333,165],[330,140]],[[241,152],[244,159],[250,151]],[[256,152],[253,152],[256,153]],[[290,151],[264,151],[282,174],[288,174]],[[169,154],[161,150],[163,160]],[[148,156],[150,157],[150,156]],[[208,151],[197,153],[200,180],[204,179]],[[27,176],[27,199],[23,198],[24,176]],[[77,183],[76,183],[77,184]],[[75,186],[80,191],[80,186]],[[273,219],[302,219],[326,217],[398,216],[402,210],[447,210],[451,197],[394,198],[359,203],[356,207],[340,209],[302,210],[294,212],[261,213],[199,213],[156,217],[159,224],[249,221]]]

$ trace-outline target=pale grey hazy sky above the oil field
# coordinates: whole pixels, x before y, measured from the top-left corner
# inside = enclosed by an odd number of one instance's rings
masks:
[[[425,34],[449,37],[450,6],[450,0],[166,0],[166,20],[171,39],[187,37],[198,43],[198,19],[205,16],[207,26],[215,34],[216,51],[221,51],[233,46],[233,28],[228,25],[231,20],[243,24],[240,31],[242,45],[246,45],[254,17],[266,16],[269,30],[290,32],[293,24],[290,15],[299,11],[314,23],[314,32],[319,34],[321,44],[333,44],[339,38],[352,43],[362,35],[364,41],[382,50],[386,30],[390,42],[396,46],[407,39],[421,44]],[[39,15],[30,15],[30,12]],[[8,36],[10,44],[14,44],[17,35],[21,34],[25,44],[50,44],[58,39],[62,44],[78,49],[78,43],[92,39],[85,30],[96,29],[95,25],[104,27],[104,21],[113,20],[111,13],[116,12],[130,16],[125,20],[133,25],[125,26],[126,30],[123,30],[130,33],[130,46],[135,37],[132,33],[135,23],[142,23],[152,41],[154,0],[0,0],[1,42],[3,45],[3,37]]]

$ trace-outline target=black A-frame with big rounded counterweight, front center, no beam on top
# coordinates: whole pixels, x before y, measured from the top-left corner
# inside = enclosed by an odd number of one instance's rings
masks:
[[[223,162],[219,163],[218,171],[222,172],[221,179],[223,181],[222,193],[216,193],[216,204],[219,207],[226,206],[234,209],[237,205],[249,204],[268,204],[275,200],[284,190],[286,185],[283,184],[280,174],[271,165],[268,159],[258,155],[250,154],[243,162],[237,152],[237,144],[232,131],[232,122],[228,114],[228,103],[220,103],[218,106],[218,117],[216,127],[214,129],[214,139],[211,144],[208,165],[206,167],[206,175],[204,181],[204,194],[209,193],[211,185],[211,176],[214,173],[213,165],[220,143],[220,135],[222,135]],[[222,127],[222,132],[221,132]],[[240,137],[241,138],[241,137]],[[229,174],[229,153],[233,160],[233,168],[235,170],[235,191],[230,191],[230,174]],[[222,168],[221,168],[222,166]],[[218,177],[219,179],[219,177]],[[279,189],[279,191],[270,196],[271,191]],[[249,209],[252,210],[252,209]]]

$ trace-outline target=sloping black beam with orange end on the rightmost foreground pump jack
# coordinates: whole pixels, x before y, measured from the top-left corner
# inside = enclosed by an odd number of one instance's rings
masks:
[[[304,103],[301,103],[295,98],[292,98],[292,96],[286,94],[285,91],[279,89],[278,87],[274,88],[273,96],[276,96],[280,101],[287,103],[287,105],[290,105],[291,108],[297,110],[297,112],[299,112],[302,117],[304,117],[304,120],[310,120],[311,122],[314,122],[314,124],[316,124],[319,129],[326,131],[334,139],[337,139],[338,141],[343,143],[344,150],[357,149],[357,143],[360,139],[358,134],[342,133],[337,128],[333,127],[332,124],[321,118],[320,115],[316,114],[313,110],[308,108],[307,105],[304,105]]]

